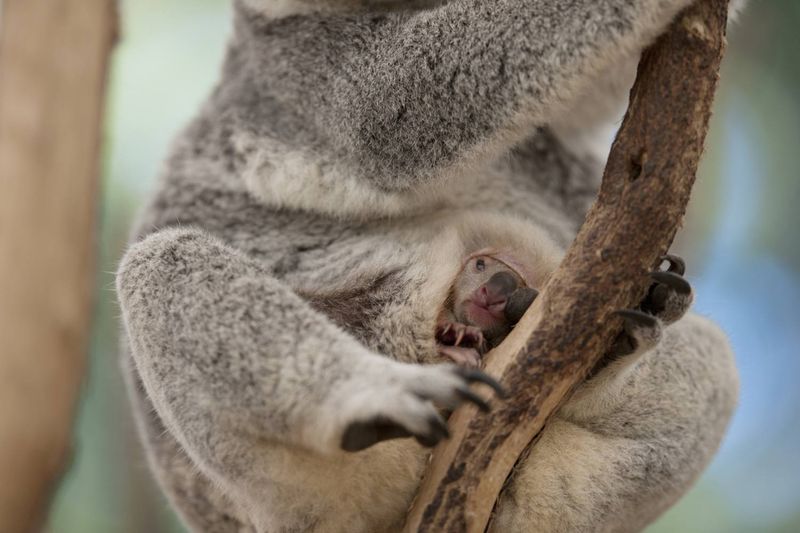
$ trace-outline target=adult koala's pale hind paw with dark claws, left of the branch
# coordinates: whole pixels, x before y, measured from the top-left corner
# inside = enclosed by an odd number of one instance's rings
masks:
[[[414,437],[435,446],[450,436],[447,422],[434,403],[455,409],[469,402],[488,411],[489,404],[469,386],[483,383],[503,396],[497,381],[479,370],[452,365],[393,364],[366,380],[345,407],[340,447],[357,452],[379,442]]]

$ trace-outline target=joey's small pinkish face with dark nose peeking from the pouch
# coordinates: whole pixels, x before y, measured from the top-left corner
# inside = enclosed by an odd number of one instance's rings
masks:
[[[491,342],[511,329],[506,305],[522,287],[522,277],[506,263],[489,255],[472,256],[453,286],[453,315],[480,329]]]

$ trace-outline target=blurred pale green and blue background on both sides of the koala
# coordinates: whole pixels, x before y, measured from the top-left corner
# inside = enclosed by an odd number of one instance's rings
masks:
[[[230,0],[123,2],[106,123],[92,365],[54,533],[179,532],[139,451],[117,364],[113,271],[171,138],[217,75]],[[709,149],[675,250],[728,332],[741,405],[695,488],[651,533],[800,531],[800,2],[732,29]]]

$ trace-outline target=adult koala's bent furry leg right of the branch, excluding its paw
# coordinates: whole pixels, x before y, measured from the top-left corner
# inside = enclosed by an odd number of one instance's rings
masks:
[[[664,328],[613,393],[602,370],[542,431],[497,505],[492,531],[640,531],[692,485],[733,413],[724,334],[689,315]]]

